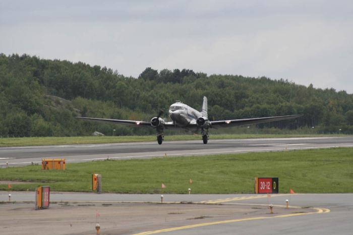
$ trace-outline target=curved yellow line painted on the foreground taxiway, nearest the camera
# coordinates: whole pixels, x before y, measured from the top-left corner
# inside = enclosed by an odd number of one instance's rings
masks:
[[[244,219],[221,220],[221,221],[207,222],[207,223],[197,223],[197,224],[180,226],[180,227],[171,227],[171,228],[164,228],[164,229],[159,229],[159,230],[154,230],[154,231],[145,231],[145,232],[136,233],[134,235],[147,235],[147,234],[155,234],[155,233],[160,233],[160,232],[169,232],[169,231],[175,231],[175,230],[182,230],[182,229],[209,226],[209,225],[217,225],[217,224],[224,224],[224,223],[233,223],[233,222],[259,220],[259,219],[284,218],[284,217],[290,217],[290,216],[320,214],[320,213],[330,212],[330,210],[326,209],[326,208],[313,208],[313,209],[316,211],[315,212],[307,212],[307,213],[303,212],[303,213],[295,213],[295,214],[276,215],[276,216],[270,216],[270,217],[262,216],[262,217],[253,217],[253,218],[244,218]]]

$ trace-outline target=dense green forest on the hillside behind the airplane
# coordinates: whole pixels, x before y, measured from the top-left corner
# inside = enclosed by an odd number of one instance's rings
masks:
[[[303,114],[295,121],[257,125],[254,132],[353,134],[353,94],[333,88],[191,69],[146,68],[134,78],[82,62],[0,53],[0,137],[154,134],[152,128],[75,116],[150,121],[160,109],[167,113],[175,100],[201,109],[203,96],[211,120]]]

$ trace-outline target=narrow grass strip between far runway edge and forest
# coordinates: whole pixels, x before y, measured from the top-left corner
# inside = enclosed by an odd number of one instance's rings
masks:
[[[289,137],[320,137],[343,135],[310,135],[310,134],[219,134],[211,135],[211,139],[249,139],[249,138],[289,138]],[[164,140],[200,140],[201,135],[165,135]],[[59,144],[101,144],[155,141],[156,136],[86,136],[86,137],[22,137],[0,138],[0,147],[36,146]]]

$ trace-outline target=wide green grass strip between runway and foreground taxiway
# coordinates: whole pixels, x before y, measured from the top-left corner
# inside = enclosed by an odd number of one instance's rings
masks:
[[[0,179],[38,182],[12,190],[49,185],[52,191],[91,192],[91,174],[100,173],[103,192],[185,194],[191,188],[195,194],[230,194],[253,193],[255,177],[278,177],[280,193],[352,193],[352,169],[353,148],[332,148],[68,163],[63,171],[30,165],[1,168]]]

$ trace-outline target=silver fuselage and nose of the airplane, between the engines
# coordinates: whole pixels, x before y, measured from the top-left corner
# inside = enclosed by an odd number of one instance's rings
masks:
[[[196,120],[203,115],[189,105],[176,102],[170,105],[169,116],[175,125],[186,127],[190,124],[196,124]]]

